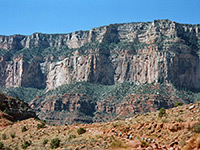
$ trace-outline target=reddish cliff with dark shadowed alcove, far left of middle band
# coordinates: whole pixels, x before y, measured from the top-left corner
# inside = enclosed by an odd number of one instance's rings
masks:
[[[0,85],[2,87],[45,87],[45,76],[38,62],[26,63],[23,56],[13,60],[2,56],[0,61]]]

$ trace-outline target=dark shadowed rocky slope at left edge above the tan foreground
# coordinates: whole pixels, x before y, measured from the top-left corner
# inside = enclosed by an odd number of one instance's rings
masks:
[[[0,127],[28,118],[36,118],[36,113],[26,102],[0,93]]]

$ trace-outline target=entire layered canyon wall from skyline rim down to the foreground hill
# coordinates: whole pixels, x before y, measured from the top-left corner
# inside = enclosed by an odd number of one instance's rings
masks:
[[[111,24],[0,36],[1,91],[50,123],[99,122],[195,101],[200,25]]]

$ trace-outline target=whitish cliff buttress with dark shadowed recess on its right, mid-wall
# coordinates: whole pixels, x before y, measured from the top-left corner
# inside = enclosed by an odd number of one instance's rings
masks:
[[[91,83],[114,84],[114,69],[109,58],[99,54],[74,56],[51,63],[47,74],[47,88],[54,89],[63,84],[88,81]]]

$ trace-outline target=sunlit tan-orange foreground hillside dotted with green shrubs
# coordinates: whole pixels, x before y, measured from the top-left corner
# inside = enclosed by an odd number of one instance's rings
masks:
[[[28,119],[0,129],[0,148],[199,149],[199,117],[200,103],[195,103],[106,123],[51,126]]]

